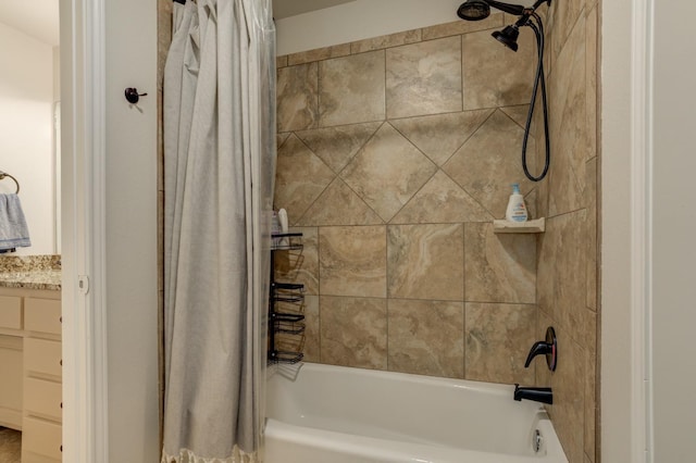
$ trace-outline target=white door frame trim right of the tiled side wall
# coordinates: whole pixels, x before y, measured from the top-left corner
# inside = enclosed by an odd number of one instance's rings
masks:
[[[654,0],[601,8],[601,461],[650,463]]]

